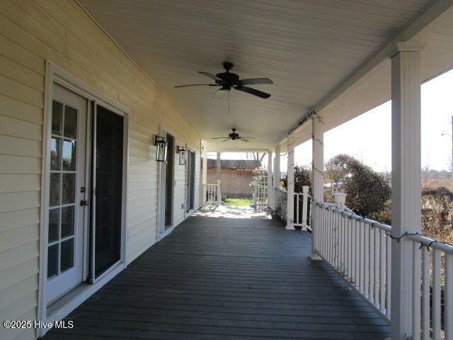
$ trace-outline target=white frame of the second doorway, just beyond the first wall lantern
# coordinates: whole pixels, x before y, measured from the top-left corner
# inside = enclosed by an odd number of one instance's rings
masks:
[[[162,196],[162,191],[166,191],[165,188],[165,181],[166,181],[166,176],[164,169],[166,166],[166,162],[158,162],[158,177],[157,177],[157,227],[156,227],[156,241],[159,242],[161,239],[166,237],[173,228],[175,227],[174,225],[174,217],[175,217],[175,169],[176,169],[176,156],[175,156],[175,147],[176,147],[176,135],[175,133],[171,130],[168,129],[164,125],[159,125],[159,136],[161,137],[166,137],[166,134],[172,135],[173,136],[173,171],[172,171],[172,176],[171,176],[171,181],[173,185],[171,186],[171,226],[168,227],[164,232],[161,232],[161,222],[164,221],[165,223],[165,198],[166,196]],[[162,201],[164,200],[164,201]],[[163,205],[163,207],[162,207]]]

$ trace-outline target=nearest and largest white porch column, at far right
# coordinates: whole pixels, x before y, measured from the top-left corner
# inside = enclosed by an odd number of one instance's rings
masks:
[[[391,55],[391,234],[420,232],[420,50],[398,43]],[[412,334],[412,246],[391,246],[391,339]],[[418,293],[418,292],[417,292]]]

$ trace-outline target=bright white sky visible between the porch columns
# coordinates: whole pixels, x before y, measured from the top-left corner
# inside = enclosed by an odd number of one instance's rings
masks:
[[[421,87],[423,168],[448,171],[452,162],[452,90],[453,70]],[[391,171],[391,102],[325,132],[324,162],[336,154],[349,154],[376,171]],[[246,159],[246,155],[222,153],[222,159]],[[295,148],[294,160],[298,165],[311,164],[311,140]],[[265,157],[263,166],[267,164]],[[285,155],[280,164],[280,169],[286,171]]]

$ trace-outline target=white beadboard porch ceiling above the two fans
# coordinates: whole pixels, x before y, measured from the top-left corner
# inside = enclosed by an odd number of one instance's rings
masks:
[[[207,149],[267,149],[310,108],[428,8],[428,0],[79,0],[200,132]],[[210,82],[234,63],[241,78],[269,77],[261,99]],[[220,142],[231,128],[251,142]]]

